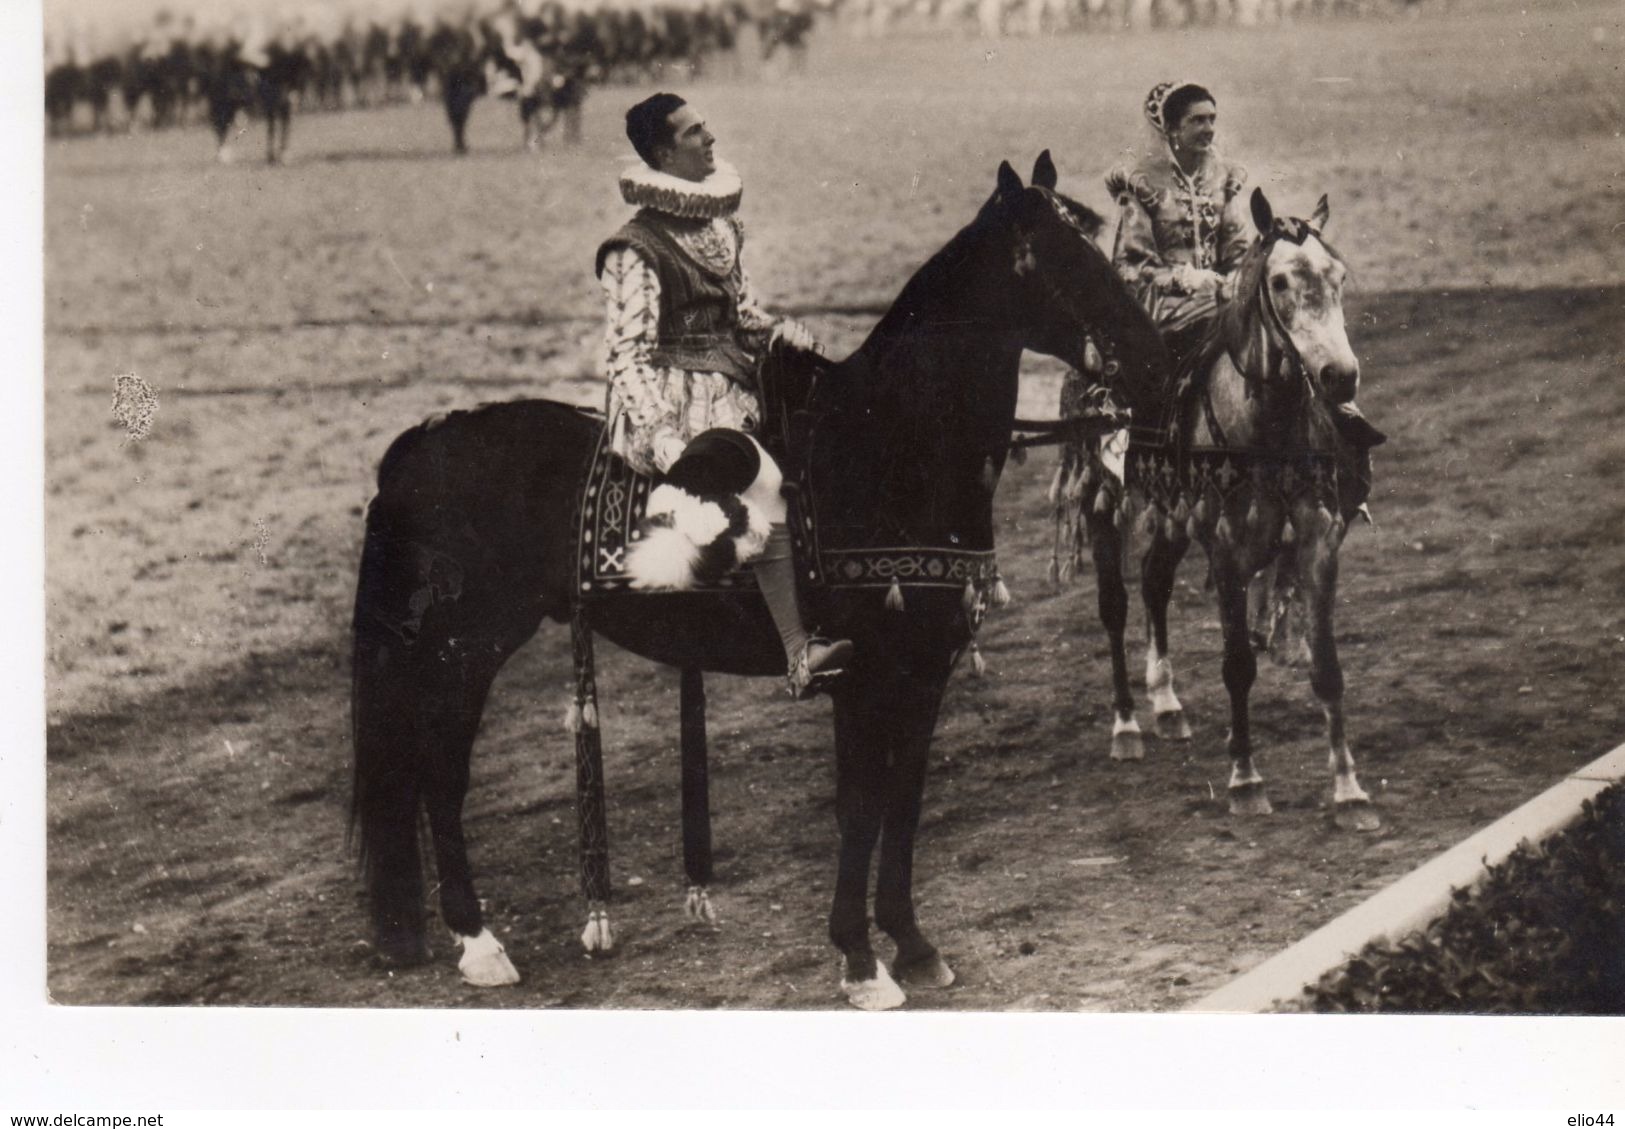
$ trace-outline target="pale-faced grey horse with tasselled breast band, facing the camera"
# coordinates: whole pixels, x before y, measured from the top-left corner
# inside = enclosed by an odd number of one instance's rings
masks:
[[[1282,569],[1295,572],[1306,611],[1310,684],[1326,712],[1337,822],[1372,830],[1378,817],[1355,780],[1332,635],[1337,549],[1372,479],[1367,452],[1346,442],[1332,421],[1336,404],[1354,400],[1360,366],[1342,317],[1347,268],[1321,240],[1326,218],[1324,197],[1305,223],[1276,218],[1264,193],[1253,193],[1259,237],[1235,271],[1235,297],[1181,366],[1178,387],[1110,382],[1134,421],[1126,450],[1121,439],[1071,447],[1056,499],[1071,531],[1079,531],[1081,520],[1094,556],[1100,622],[1112,640],[1112,757],[1142,755],[1123,650],[1124,531],[1139,510],[1150,541],[1141,591],[1149,634],[1146,689],[1157,733],[1191,736],[1173,692],[1168,598],[1180,559],[1196,541],[1207,554],[1224,629],[1230,811],[1271,811],[1248,726],[1248,692],[1258,673],[1248,585],[1271,565],[1269,580]]]

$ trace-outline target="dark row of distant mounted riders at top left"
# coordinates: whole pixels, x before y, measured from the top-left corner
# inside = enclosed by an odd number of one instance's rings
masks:
[[[80,37],[47,42],[46,120],[54,136],[135,125],[169,128],[208,119],[223,153],[240,110],[275,132],[291,107],[348,109],[421,101],[439,93],[453,145],[481,94],[520,104],[525,143],[535,146],[554,122],[578,130],[580,107],[595,83],[648,81],[668,68],[684,78],[712,62],[731,65],[751,29],[764,55],[798,54],[814,24],[814,0],[674,0],[653,6],[566,6],[507,0],[488,13],[395,19],[346,18],[318,29],[288,19],[266,34],[254,26],[205,26],[161,18],[110,50]],[[281,145],[286,145],[286,136]]]

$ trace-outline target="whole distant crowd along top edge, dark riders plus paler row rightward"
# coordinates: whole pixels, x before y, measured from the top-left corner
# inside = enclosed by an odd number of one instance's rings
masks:
[[[47,37],[46,120],[52,136],[208,120],[226,159],[232,123],[249,114],[265,120],[266,156],[278,161],[294,106],[439,96],[463,153],[470,110],[492,94],[518,104],[523,141],[536,148],[556,123],[567,141],[580,136],[582,104],[598,83],[736,71],[744,42],[764,60],[782,49],[800,68],[819,21],[858,37],[910,29],[999,37],[1358,18],[1420,2],[502,0],[488,11],[291,16],[270,28],[164,13],[115,41],[83,29]]]

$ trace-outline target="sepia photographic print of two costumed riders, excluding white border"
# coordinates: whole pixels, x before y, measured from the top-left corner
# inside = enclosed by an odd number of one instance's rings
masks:
[[[49,0],[52,1007],[1625,1014],[1617,0]]]

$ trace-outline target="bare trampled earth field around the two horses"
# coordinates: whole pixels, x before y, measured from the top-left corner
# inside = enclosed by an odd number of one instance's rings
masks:
[[[910,1007],[1185,1006],[1516,807],[1625,734],[1625,18],[1472,18],[1008,42],[821,39],[804,76],[687,89],[746,174],[752,273],[834,353],[1042,148],[1105,210],[1167,76],[1207,81],[1277,211],[1331,195],[1355,266],[1362,403],[1389,432],[1344,551],[1350,734],[1381,832],[1337,832],[1302,669],[1254,690],[1277,814],[1225,814],[1225,695],[1202,564],[1175,593],[1190,746],[1107,760],[1092,580],[1045,580],[1055,466],[1012,468],[1016,601],[956,677],[918,848],[921,921],[960,975]],[[393,435],[484,400],[598,403],[592,252],[624,214],[618,123],[518,151],[476,107],[294,123],[292,161],[206,130],[46,153],[49,989],[65,1004],[609,1009],[842,1006],[829,705],[712,677],[720,931],[681,915],[676,674],[600,648],[621,954],[585,960],[569,645],[504,673],[470,838],[525,981],[452,947],[377,971],[344,845],[348,617]],[[159,400],[145,440],[114,377]],[[1055,409],[1034,362],[1024,413]],[[1217,798],[1216,798],[1217,796]]]

